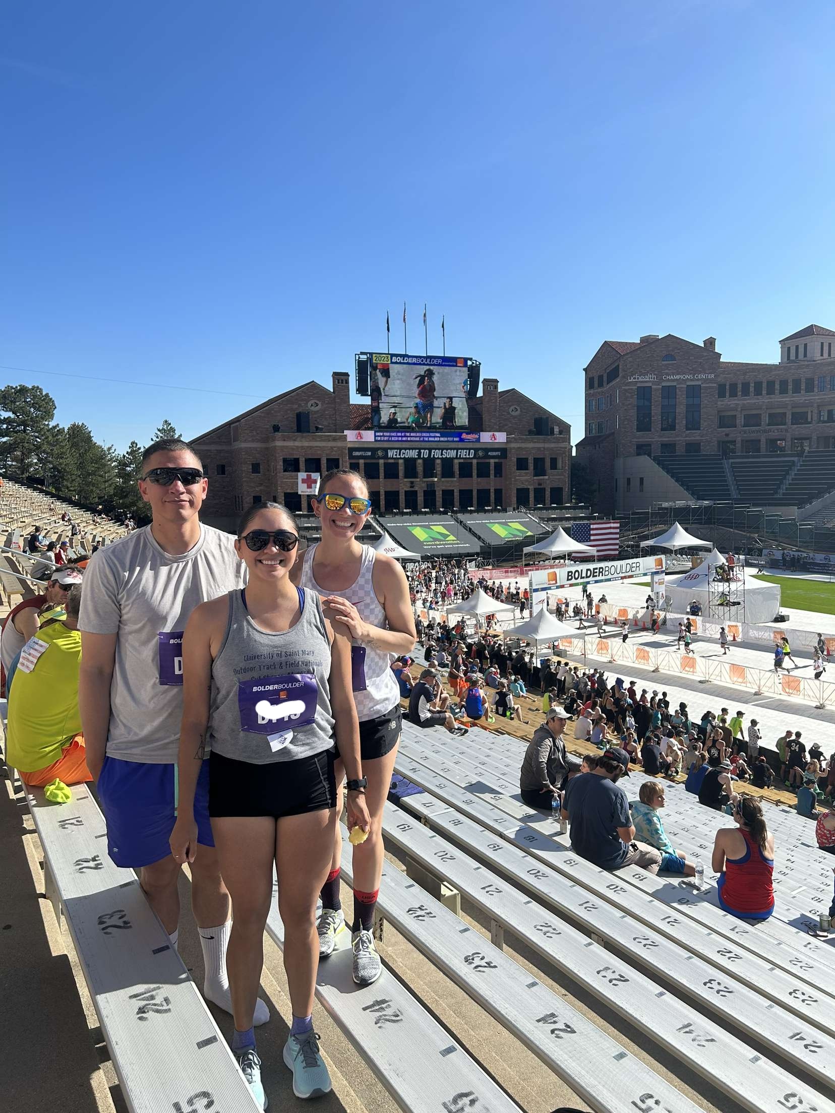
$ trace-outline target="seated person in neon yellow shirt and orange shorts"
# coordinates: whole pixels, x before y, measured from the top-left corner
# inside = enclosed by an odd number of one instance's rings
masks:
[[[45,621],[11,666],[8,759],[24,785],[92,780],[78,711],[80,605],[79,584],[67,598],[66,613]]]

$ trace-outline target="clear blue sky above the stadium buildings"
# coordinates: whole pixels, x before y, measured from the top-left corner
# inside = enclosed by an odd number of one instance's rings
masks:
[[[582,435],[603,339],[835,327],[835,6],[7,9],[0,371],[124,447],[353,355],[482,362]],[[118,385],[197,386],[223,394]],[[249,396],[245,396],[249,395]]]

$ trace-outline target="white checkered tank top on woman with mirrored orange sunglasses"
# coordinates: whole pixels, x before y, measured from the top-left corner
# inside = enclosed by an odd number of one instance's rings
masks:
[[[360,574],[350,588],[344,588],[342,591],[327,591],[313,578],[313,561],[317,548],[318,544],[315,544],[305,550],[301,585],[318,592],[320,595],[341,595],[354,604],[363,622],[386,630],[389,623],[385,610],[374,593],[372,582],[376,553],[371,545],[362,546]],[[391,669],[392,660],[392,653],[372,649],[371,646],[361,646],[358,642],[352,644],[351,678],[360,722],[367,722],[370,719],[386,715],[400,703],[400,688]]]

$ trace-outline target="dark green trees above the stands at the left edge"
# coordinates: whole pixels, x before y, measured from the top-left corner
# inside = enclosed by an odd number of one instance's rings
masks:
[[[149,521],[136,485],[143,446],[131,441],[117,452],[111,444],[99,444],[84,422],[65,427],[55,422],[55,400],[40,386],[0,390],[0,472],[59,498]],[[179,434],[166,420],[148,443],[171,436]]]

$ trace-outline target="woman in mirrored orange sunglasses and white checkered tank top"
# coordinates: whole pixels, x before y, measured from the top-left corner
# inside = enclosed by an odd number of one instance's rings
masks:
[[[395,657],[411,653],[414,648],[414,614],[400,564],[357,540],[371,513],[369,489],[362,476],[346,469],[328,472],[320,484],[314,509],[322,524],[322,540],[299,555],[294,578],[301,588],[322,595],[326,618],[343,623],[353,640],[352,679],[371,829],[365,841],[354,847],[352,945],[354,981],[370,985],[382,971],[372,927],[383,871],[383,806],[401,729],[400,688],[391,666]],[[337,761],[337,785],[342,777]],[[322,958],[333,952],[345,928],[340,900],[341,858],[337,826],[331,873],[322,888]]]

